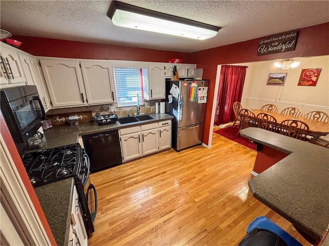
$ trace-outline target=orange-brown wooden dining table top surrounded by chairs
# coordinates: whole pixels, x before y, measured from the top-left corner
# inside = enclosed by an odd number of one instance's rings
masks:
[[[297,117],[297,116],[291,116],[291,115],[286,115],[286,114],[281,114],[281,113],[274,113],[274,112],[269,112],[269,111],[264,111],[260,109],[251,109],[252,113],[257,116],[259,113],[267,113],[272,115],[273,117],[276,118],[277,124],[280,127],[281,122],[286,119],[297,119],[300,121],[305,122],[308,125],[309,128],[309,135],[312,136],[325,136],[329,134],[329,122],[323,122],[319,120],[314,120],[314,119],[305,119],[303,117]]]

